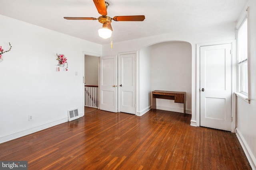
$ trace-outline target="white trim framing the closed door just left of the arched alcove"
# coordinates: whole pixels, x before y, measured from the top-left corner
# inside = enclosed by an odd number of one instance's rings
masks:
[[[129,51],[129,52],[123,52],[123,53],[118,53],[118,112],[120,111],[120,55],[126,55],[126,54],[135,54],[135,115],[137,115],[137,62],[138,62],[138,51]]]

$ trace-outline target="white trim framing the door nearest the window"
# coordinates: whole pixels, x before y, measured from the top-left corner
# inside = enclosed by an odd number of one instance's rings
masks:
[[[236,128],[236,95],[235,87],[236,87],[236,40],[226,40],[226,41],[216,41],[216,42],[209,42],[209,43],[198,43],[196,44],[196,122],[191,122],[190,125],[200,126],[200,47],[207,46],[207,45],[219,45],[219,44],[231,44],[232,48],[232,102],[231,102],[231,132],[235,132]]]

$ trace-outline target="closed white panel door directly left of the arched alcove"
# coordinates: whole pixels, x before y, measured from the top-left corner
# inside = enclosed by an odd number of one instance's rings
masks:
[[[119,111],[135,114],[136,53],[119,54]]]

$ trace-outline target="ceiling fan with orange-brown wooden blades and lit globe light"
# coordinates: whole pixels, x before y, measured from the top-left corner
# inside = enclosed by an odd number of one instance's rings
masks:
[[[107,8],[109,6],[108,2],[105,0],[93,0],[98,12],[100,15],[99,18],[93,17],[64,17],[66,20],[98,20],[103,24],[102,28],[98,30],[99,36],[106,39],[111,37],[112,34],[112,26],[111,21],[144,21],[145,16],[114,16],[113,18],[107,16]]]

